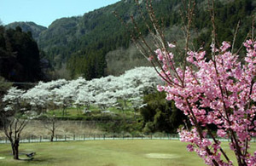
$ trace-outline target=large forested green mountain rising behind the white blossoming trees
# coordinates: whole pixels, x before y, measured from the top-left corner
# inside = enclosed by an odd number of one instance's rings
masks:
[[[145,0],[140,0],[139,3],[144,6]],[[255,5],[253,0],[216,1],[218,42],[231,42],[240,20],[236,37],[236,48],[239,48],[252,27],[251,16],[255,14]],[[180,0],[153,1],[155,14],[163,20],[162,25],[170,42],[179,42],[183,37],[179,14],[182,6]],[[55,20],[48,29],[40,32],[37,38],[39,48],[44,50],[56,70],[67,66],[71,77],[84,76],[91,79],[108,74],[118,75],[134,66],[148,65],[131,44],[130,33],[114,16],[113,11],[128,24],[131,23],[130,16],[134,15],[143,35],[148,35],[134,0],[121,0],[83,16]],[[143,12],[146,12],[145,8]],[[193,22],[195,47],[199,48],[202,44],[209,47],[212,25],[206,0],[196,0]],[[128,27],[133,28],[132,25]],[[149,37],[146,38],[150,40]]]

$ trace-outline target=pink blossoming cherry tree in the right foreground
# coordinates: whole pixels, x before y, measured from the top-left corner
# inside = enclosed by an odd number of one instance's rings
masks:
[[[157,89],[166,91],[166,100],[174,100],[194,126],[190,130],[179,129],[180,140],[189,142],[188,151],[197,152],[209,165],[233,165],[217,136],[230,139],[230,150],[239,165],[256,165],[256,152],[248,152],[250,140],[256,135],[256,42],[247,40],[243,45],[247,49],[243,65],[238,55],[228,51],[228,42],[220,48],[212,44],[214,58],[208,61],[202,49],[187,52],[186,60],[191,66],[184,68],[175,68],[166,58],[172,52],[155,51],[163,64],[160,77],[166,81]],[[216,134],[209,125],[218,128]]]

